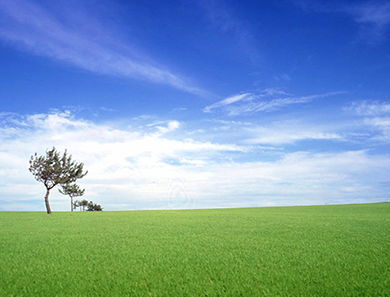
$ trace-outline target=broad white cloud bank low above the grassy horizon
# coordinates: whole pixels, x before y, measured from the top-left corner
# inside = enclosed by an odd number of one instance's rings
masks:
[[[86,188],[85,198],[106,210],[349,203],[388,197],[386,155],[275,154],[234,140],[188,138],[184,126],[171,120],[153,127],[113,128],[68,112],[5,115],[0,125],[0,209],[44,210],[44,187],[28,172],[28,160],[52,146],[67,148],[85,164],[89,174],[79,182]],[[304,137],[337,138],[316,133]],[[68,210],[68,198],[56,190],[51,201],[54,211]]]

